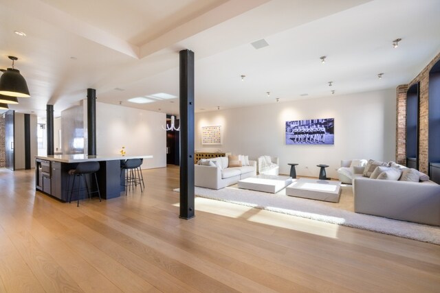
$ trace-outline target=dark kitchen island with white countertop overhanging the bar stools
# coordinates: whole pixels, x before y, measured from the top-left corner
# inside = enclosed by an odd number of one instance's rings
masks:
[[[151,155],[141,156],[88,156],[87,154],[56,154],[53,156],[36,156],[35,159],[35,188],[45,194],[54,196],[67,202],[72,188],[72,180],[69,180],[69,170],[75,169],[78,163],[97,161],[100,169],[96,173],[101,197],[104,199],[117,198],[124,191],[125,174],[121,172],[120,161],[127,159],[151,159]],[[88,180],[91,188],[94,180]],[[83,198],[83,192],[81,198]]]

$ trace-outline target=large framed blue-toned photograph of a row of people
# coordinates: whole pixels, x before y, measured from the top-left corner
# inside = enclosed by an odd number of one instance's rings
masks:
[[[287,145],[334,145],[335,119],[286,121]]]

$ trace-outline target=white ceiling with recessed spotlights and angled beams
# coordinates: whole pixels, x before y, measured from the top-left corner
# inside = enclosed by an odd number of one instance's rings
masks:
[[[439,15],[439,0],[0,0],[0,68],[19,58],[31,97],[10,108],[39,116],[87,88],[98,102],[177,114],[178,98],[126,100],[178,96],[181,49],[195,52],[197,112],[287,102],[410,82],[439,53]],[[262,38],[268,47],[250,45]]]

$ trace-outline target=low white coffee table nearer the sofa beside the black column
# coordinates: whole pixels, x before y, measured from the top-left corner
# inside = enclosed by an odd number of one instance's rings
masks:
[[[243,189],[251,189],[275,194],[288,186],[290,183],[292,183],[292,177],[289,176],[259,174],[255,177],[240,180],[237,185],[239,188]]]

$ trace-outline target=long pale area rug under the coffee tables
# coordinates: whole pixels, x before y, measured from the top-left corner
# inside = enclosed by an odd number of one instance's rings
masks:
[[[178,192],[179,189],[174,189],[174,191]],[[440,245],[440,227],[353,213],[329,207],[318,200],[294,198],[285,194],[267,194],[234,187],[220,190],[195,187],[195,195]]]

